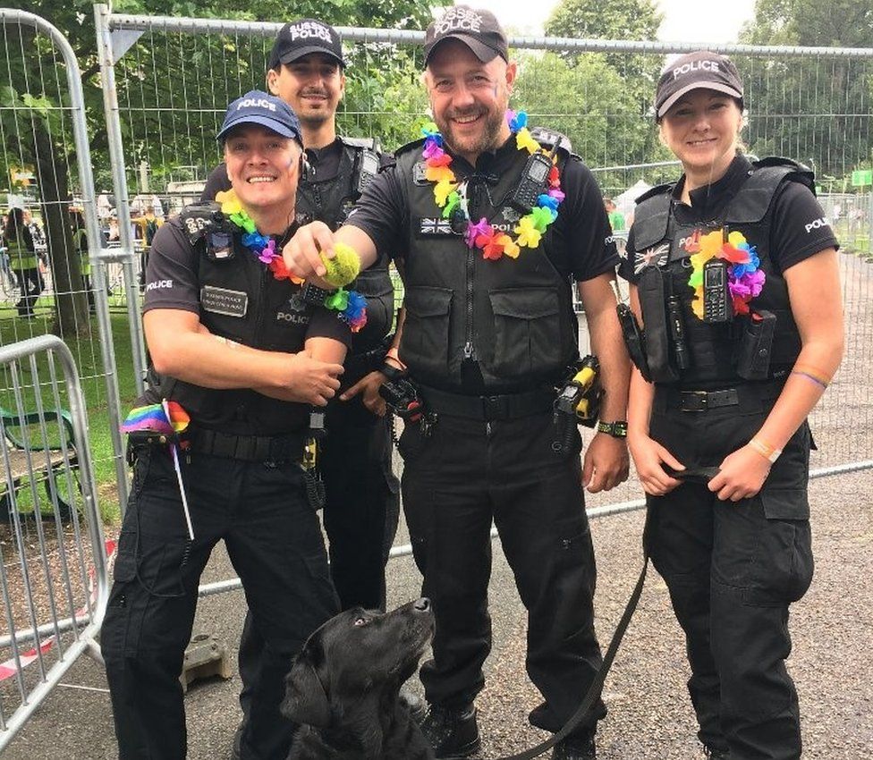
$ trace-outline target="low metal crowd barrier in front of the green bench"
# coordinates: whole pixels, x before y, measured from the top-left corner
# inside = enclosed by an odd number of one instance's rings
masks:
[[[94,637],[106,548],[72,353],[51,335],[0,347],[0,752]]]

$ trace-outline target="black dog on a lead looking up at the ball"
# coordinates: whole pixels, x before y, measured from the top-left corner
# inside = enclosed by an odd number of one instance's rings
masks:
[[[292,663],[282,713],[301,724],[288,760],[433,760],[398,699],[434,632],[428,599],[341,612]]]

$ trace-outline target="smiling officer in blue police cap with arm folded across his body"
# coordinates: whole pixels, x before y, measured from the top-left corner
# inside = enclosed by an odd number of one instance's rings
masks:
[[[339,388],[351,333],[336,312],[301,299],[281,258],[267,264],[297,226],[300,122],[280,98],[253,91],[228,108],[218,139],[235,200],[183,211],[157,232],[148,260],[152,366],[138,406],[177,401],[191,417],[179,459],[193,537],[165,438],[131,437],[131,500],[101,637],[123,760],[185,756],[179,674],[219,539],[266,642],[242,760],[288,755],[284,676],[339,610],[300,462],[310,405]],[[243,236],[244,215],[258,235]]]

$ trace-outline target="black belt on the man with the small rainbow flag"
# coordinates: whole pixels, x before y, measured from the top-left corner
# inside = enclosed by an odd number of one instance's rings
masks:
[[[142,431],[128,436],[131,450],[139,446],[165,446],[168,443],[171,443],[168,436],[159,433]],[[299,462],[303,459],[305,435],[233,435],[191,426],[181,435],[178,443],[182,451],[223,459]]]

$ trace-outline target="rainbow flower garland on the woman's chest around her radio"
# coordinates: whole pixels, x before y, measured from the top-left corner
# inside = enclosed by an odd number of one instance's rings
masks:
[[[759,269],[758,251],[742,232],[731,232],[725,241],[721,230],[705,235],[698,230],[685,241],[685,250],[692,254],[688,284],[694,289],[691,308],[698,319],[703,319],[703,265],[710,258],[724,258],[729,263],[727,284],[733,298],[733,313],[749,314],[749,301],[759,295],[767,275]]]

